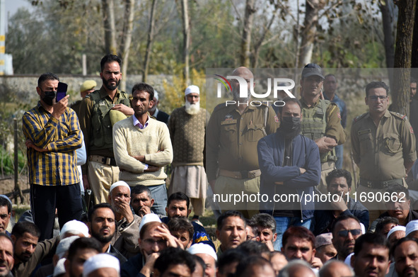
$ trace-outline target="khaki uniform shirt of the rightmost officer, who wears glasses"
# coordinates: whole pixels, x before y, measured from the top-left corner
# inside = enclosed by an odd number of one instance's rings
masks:
[[[351,140],[354,162],[367,181],[404,178],[404,162],[417,159],[414,132],[399,113],[386,111],[378,126],[370,113],[358,116],[353,120]]]

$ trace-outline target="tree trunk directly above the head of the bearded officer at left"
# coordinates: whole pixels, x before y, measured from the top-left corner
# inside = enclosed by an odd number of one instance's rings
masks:
[[[116,30],[113,0],[102,0],[103,23],[105,26],[105,52],[116,55]]]

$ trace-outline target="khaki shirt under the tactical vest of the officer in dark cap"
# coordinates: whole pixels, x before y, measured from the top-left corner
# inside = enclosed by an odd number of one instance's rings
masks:
[[[316,101],[316,103],[308,107],[305,101],[303,101],[303,98],[301,98],[302,115],[303,115],[303,111],[316,108],[316,106],[318,106],[318,103],[320,103],[319,98],[318,98],[318,101]],[[342,128],[341,115],[339,115],[339,108],[335,103],[330,103],[330,105],[328,105],[327,111],[325,112],[325,118],[327,121],[327,127],[325,128],[325,135],[327,137],[333,137],[338,145],[342,145],[347,139],[347,134],[344,131],[344,128]],[[303,118],[302,118],[301,124],[303,124]]]

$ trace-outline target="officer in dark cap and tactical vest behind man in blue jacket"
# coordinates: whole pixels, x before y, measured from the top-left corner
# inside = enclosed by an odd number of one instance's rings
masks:
[[[301,78],[302,116],[301,134],[314,140],[321,158],[321,181],[318,190],[327,193],[325,177],[336,169],[335,147],[342,145],[347,137],[341,125],[337,104],[321,97],[323,72],[318,64],[306,64]]]

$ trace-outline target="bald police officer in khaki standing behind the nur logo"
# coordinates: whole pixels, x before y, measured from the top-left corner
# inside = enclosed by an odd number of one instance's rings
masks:
[[[231,75],[245,79],[250,88],[250,79],[253,78],[250,69],[238,67]],[[257,142],[279,127],[271,106],[249,105],[250,98],[240,98],[238,81],[230,82],[236,104],[216,106],[206,134],[207,177],[214,193],[223,196],[223,200],[230,194],[249,196],[260,192]],[[245,199],[234,205],[232,198],[219,205],[222,210],[241,210],[247,218],[259,210],[259,203]]]

